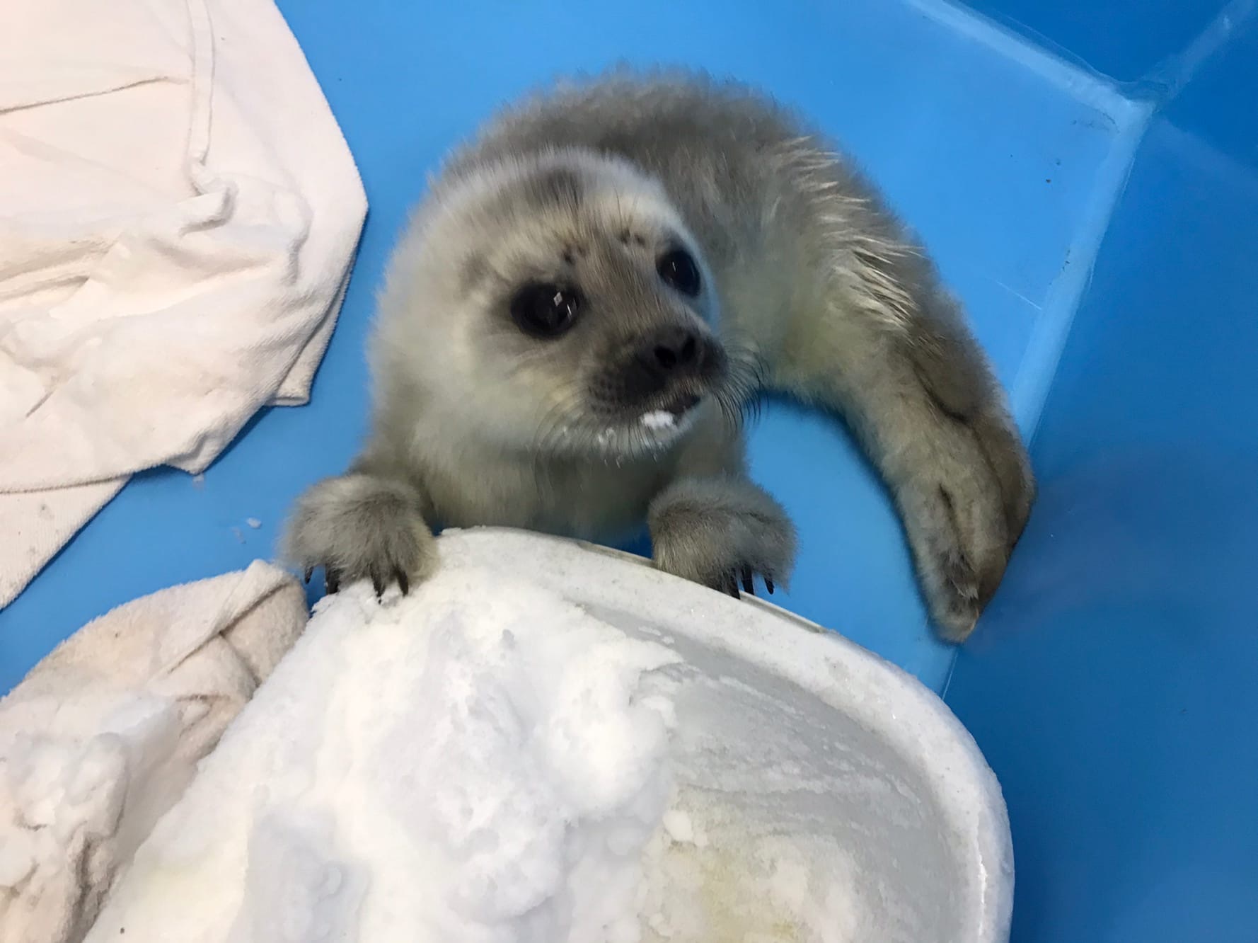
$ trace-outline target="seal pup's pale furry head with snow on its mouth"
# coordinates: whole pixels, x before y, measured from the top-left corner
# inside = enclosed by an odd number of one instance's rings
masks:
[[[658,183],[582,150],[455,165],[400,248],[376,356],[515,449],[665,449],[738,410],[717,293]]]

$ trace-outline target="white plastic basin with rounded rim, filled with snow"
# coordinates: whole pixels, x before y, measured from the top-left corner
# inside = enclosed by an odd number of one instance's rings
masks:
[[[912,676],[623,554],[440,548],[320,606],[88,943],[1008,939],[1000,788]]]

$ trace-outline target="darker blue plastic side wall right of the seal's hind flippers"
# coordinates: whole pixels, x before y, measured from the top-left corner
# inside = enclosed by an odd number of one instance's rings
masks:
[[[1004,784],[1016,943],[1258,940],[1258,29],[1233,24],[1137,151],[946,695]]]

